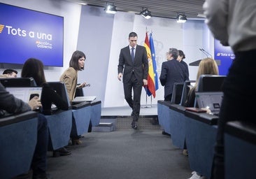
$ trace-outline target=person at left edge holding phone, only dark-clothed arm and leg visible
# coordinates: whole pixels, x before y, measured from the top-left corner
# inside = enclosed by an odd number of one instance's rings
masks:
[[[41,102],[38,96],[34,96],[29,103],[15,98],[13,94],[10,94],[0,83],[0,110],[6,111],[7,113],[24,113],[29,110],[36,110],[41,107]],[[47,179],[50,178],[46,174],[47,169],[47,151],[48,151],[48,125],[44,115],[38,113],[38,127],[37,127],[37,142],[34,151],[34,156],[31,161],[31,170],[33,171],[33,179]],[[29,175],[24,173],[16,178]],[[24,177],[25,178],[25,177]]]

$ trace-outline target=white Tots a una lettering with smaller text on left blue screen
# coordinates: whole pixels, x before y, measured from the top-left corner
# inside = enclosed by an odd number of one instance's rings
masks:
[[[8,36],[18,36],[21,38],[35,38],[35,44],[37,48],[45,48],[52,49],[52,34],[46,34],[41,31],[27,31],[25,29],[21,29],[20,27],[12,27],[9,25],[0,25],[0,33],[6,29],[6,34]]]

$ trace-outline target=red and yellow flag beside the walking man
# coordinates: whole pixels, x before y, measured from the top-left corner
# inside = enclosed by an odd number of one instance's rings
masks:
[[[145,88],[145,90],[146,90],[148,96],[151,96],[151,94],[152,94],[155,98],[155,73],[154,73],[153,63],[152,63],[150,43],[148,41],[148,32],[145,33],[144,46],[145,46],[145,50],[147,51],[147,55],[148,55],[148,85]]]

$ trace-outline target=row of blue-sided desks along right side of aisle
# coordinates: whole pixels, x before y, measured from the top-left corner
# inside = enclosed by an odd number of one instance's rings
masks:
[[[158,101],[157,113],[159,124],[171,134],[173,145],[187,148],[190,168],[211,178],[218,116],[191,112],[184,106],[166,101]],[[255,149],[255,124],[228,122],[225,128],[225,178],[253,176]]]

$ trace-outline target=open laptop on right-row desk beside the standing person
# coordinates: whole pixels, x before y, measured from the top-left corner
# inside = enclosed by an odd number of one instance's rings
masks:
[[[196,92],[199,108],[208,108],[213,115],[219,115],[223,92]]]

